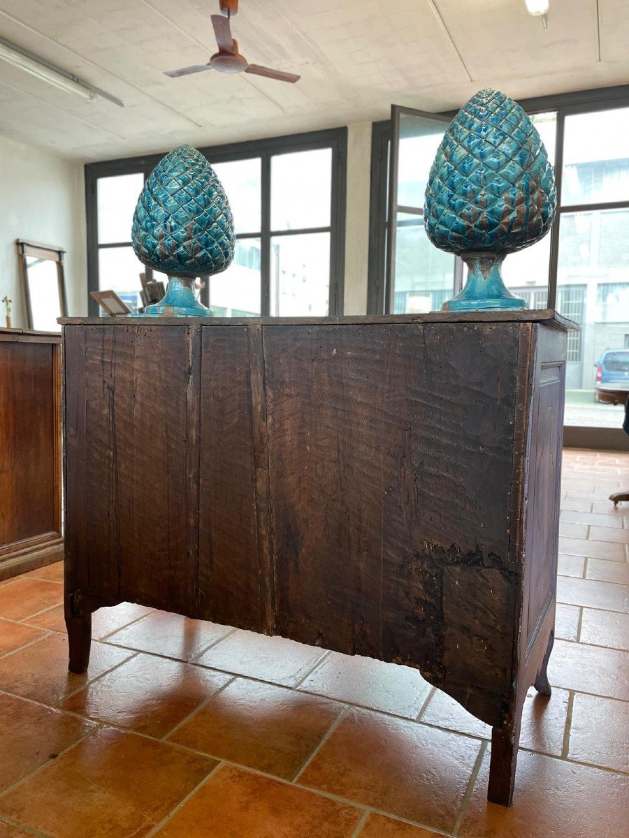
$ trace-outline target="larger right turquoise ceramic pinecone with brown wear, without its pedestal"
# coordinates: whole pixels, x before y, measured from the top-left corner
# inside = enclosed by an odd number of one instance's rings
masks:
[[[533,122],[504,93],[476,93],[450,123],[430,170],[430,241],[450,253],[506,255],[546,235],[556,205],[553,168]]]

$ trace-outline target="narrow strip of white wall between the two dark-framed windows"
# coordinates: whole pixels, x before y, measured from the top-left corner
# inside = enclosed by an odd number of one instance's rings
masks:
[[[372,123],[347,126],[345,314],[366,313]]]

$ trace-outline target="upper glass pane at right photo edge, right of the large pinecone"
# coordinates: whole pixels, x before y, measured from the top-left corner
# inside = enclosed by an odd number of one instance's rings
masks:
[[[566,116],[562,204],[629,199],[629,108]]]

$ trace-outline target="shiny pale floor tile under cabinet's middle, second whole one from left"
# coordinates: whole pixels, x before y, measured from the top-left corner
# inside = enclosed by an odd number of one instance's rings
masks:
[[[202,654],[196,663],[294,686],[324,654],[325,649],[316,646],[239,630]]]

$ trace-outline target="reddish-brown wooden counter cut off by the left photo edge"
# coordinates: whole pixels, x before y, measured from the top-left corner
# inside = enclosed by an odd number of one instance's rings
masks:
[[[60,343],[0,329],[0,580],[63,556]]]

